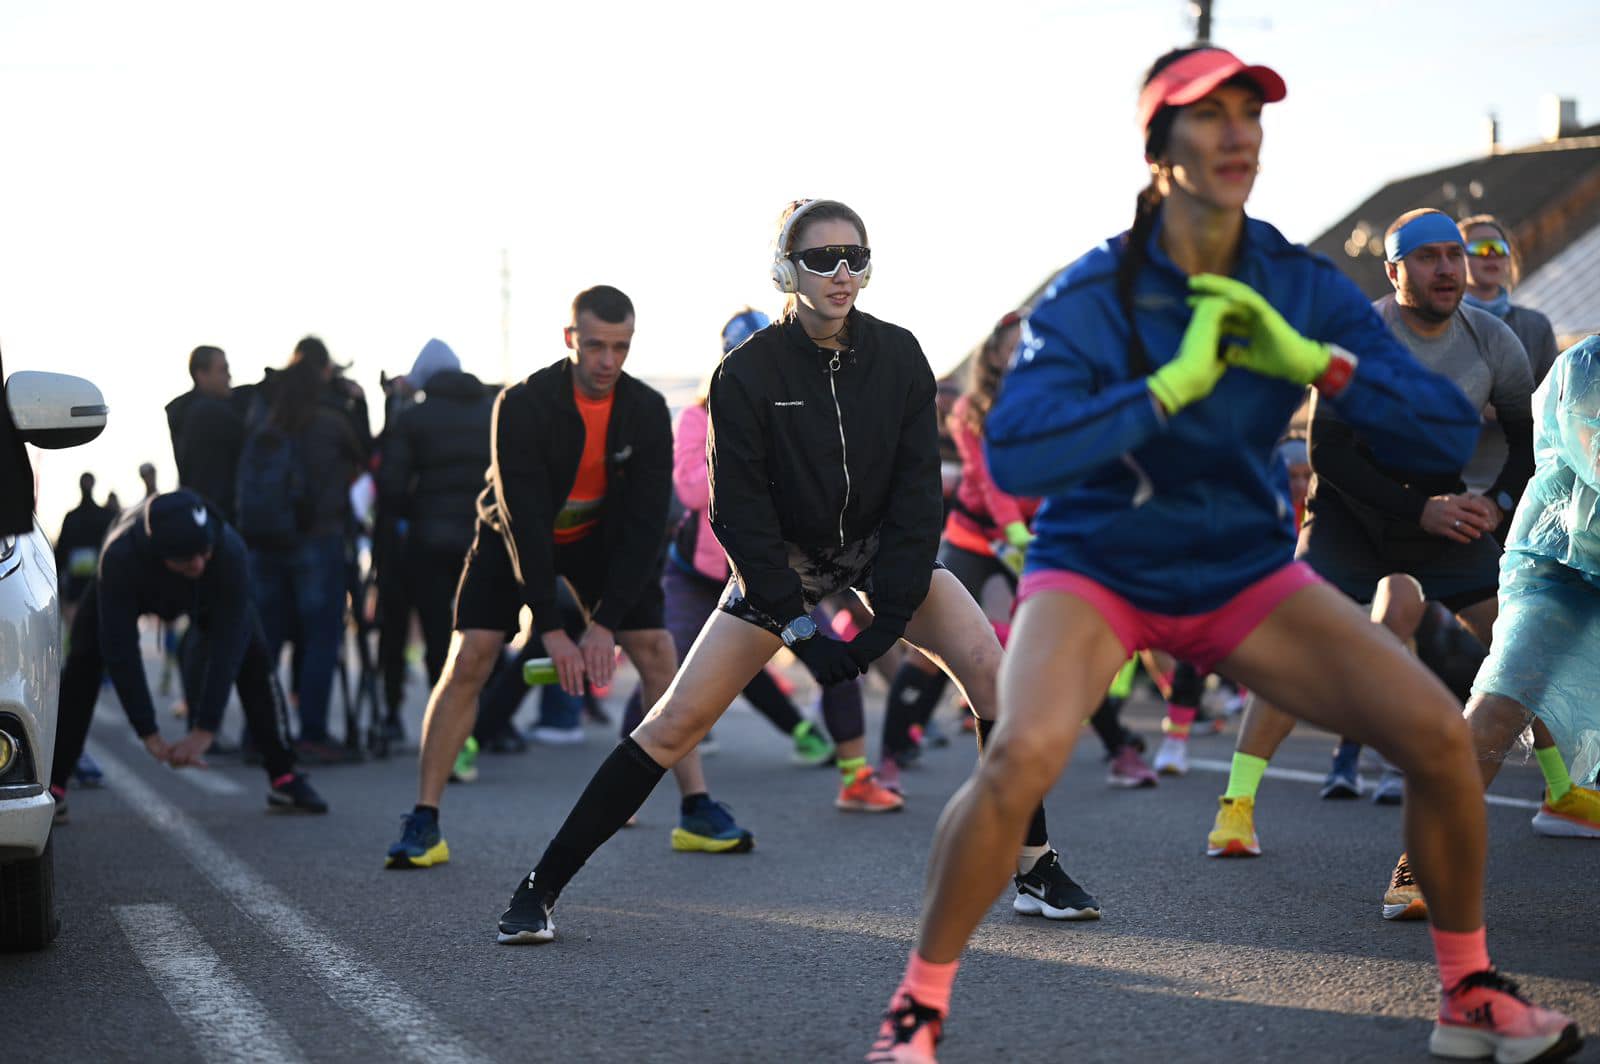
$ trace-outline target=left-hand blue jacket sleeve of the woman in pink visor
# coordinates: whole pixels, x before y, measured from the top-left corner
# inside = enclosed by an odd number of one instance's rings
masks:
[[[1144,379],[1101,386],[1048,320],[1022,326],[1016,365],[984,421],[989,474],[1010,494],[1059,494],[1162,430]]]

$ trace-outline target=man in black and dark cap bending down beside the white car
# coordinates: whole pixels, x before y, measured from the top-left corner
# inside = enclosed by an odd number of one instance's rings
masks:
[[[189,614],[198,640],[190,691],[194,730],[173,744],[157,730],[144,675],[139,618],[147,613],[163,621]],[[222,722],[229,691],[237,688],[272,781],[267,806],[328,811],[294,771],[283,693],[250,600],[245,542],[216,507],[192,491],[170,491],[130,506],[106,536],[99,574],[83,592],[61,669],[61,712],[50,771],[58,816],[66,810],[67,776],[83,752],[101,677],[107,672],[144,749],[173,768],[205,763],[200,758]]]

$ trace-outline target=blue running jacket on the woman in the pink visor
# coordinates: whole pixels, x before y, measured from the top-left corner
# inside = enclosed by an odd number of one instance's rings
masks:
[[[1189,278],[1162,251],[1160,219],[1134,285],[1150,365],[1178,352]],[[1171,418],[1128,371],[1117,304],[1125,237],[1062,270],[1022,328],[987,419],[989,467],[1011,494],[1045,496],[1029,570],[1086,576],[1141,610],[1184,616],[1226,603],[1294,555],[1288,472],[1274,446],[1304,389],[1230,368],[1210,397]],[[1245,219],[1234,277],[1302,336],[1360,362],[1334,402],[1379,462],[1461,470],[1478,411],[1424,370],[1328,259]]]

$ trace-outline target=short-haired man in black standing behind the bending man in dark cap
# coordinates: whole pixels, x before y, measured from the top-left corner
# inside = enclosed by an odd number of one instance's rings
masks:
[[[245,418],[234,402],[232,374],[221,347],[189,354],[194,387],[166,403],[178,486],[189,488],[234,520],[234,477],[245,446]]]

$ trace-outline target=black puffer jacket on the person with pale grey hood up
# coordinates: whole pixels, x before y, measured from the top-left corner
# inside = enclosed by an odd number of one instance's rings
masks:
[[[427,550],[466,557],[477,498],[490,467],[494,392],[470,373],[435,373],[427,398],[400,413],[384,434],[378,491],[410,539]]]

